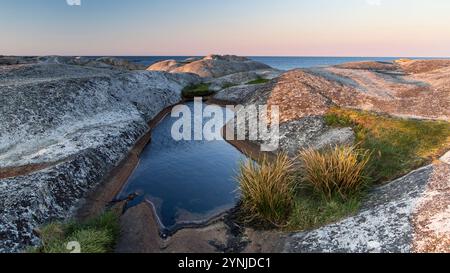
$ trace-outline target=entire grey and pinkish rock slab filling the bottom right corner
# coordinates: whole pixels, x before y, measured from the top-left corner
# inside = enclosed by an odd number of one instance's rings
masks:
[[[376,188],[355,216],[292,235],[285,252],[449,252],[450,165],[440,161]]]

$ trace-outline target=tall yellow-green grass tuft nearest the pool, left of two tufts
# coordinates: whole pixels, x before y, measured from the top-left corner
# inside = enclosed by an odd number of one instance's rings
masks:
[[[293,161],[287,155],[278,155],[274,161],[264,157],[259,164],[242,163],[237,180],[248,221],[275,226],[286,223],[297,185]]]

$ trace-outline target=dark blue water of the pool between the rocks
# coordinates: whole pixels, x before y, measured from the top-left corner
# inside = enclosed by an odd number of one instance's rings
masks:
[[[193,103],[187,105],[194,114]],[[225,108],[214,107],[221,109],[224,117],[232,116],[225,115]],[[245,159],[223,139],[175,141],[171,129],[177,120],[169,115],[153,130],[152,142],[120,195],[140,193],[134,204],[151,201],[167,229],[202,222],[233,208],[238,201],[234,178],[239,162]]]

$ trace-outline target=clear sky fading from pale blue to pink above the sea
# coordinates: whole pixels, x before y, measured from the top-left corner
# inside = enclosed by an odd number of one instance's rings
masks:
[[[448,0],[0,0],[0,55],[449,57],[449,14]]]

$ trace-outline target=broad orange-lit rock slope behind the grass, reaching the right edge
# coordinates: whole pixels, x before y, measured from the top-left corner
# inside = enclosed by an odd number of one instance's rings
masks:
[[[407,66],[428,67],[409,73]],[[427,71],[428,69],[421,69]],[[422,119],[450,118],[450,62],[411,61],[401,65],[362,62],[288,71],[271,83],[219,92],[225,101],[267,98],[281,107],[282,122],[323,115],[330,107],[347,107]]]

